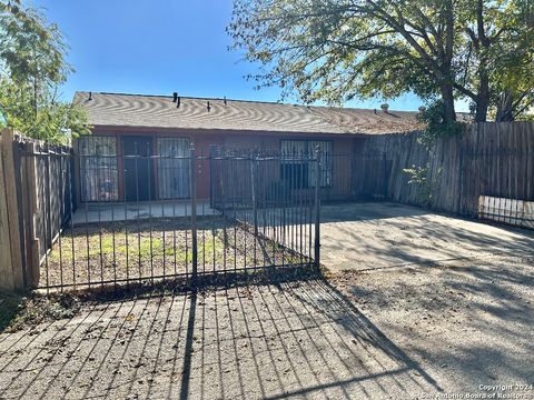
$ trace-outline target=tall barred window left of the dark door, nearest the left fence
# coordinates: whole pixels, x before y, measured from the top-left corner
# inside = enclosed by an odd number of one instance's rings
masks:
[[[117,201],[117,139],[90,136],[79,143],[81,201]]]

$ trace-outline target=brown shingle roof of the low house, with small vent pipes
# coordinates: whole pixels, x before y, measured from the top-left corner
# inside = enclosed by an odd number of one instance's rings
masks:
[[[171,96],[76,92],[92,126],[247,130],[303,133],[398,133],[421,129],[416,112]],[[210,110],[208,111],[208,101]]]

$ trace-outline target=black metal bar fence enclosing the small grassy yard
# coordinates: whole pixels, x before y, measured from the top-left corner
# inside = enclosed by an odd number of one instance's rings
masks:
[[[159,156],[134,143],[116,154],[102,143],[97,153],[52,146],[20,153],[37,177],[39,207],[24,211],[24,220],[42,227],[38,288],[171,279],[195,287],[207,276],[318,266],[319,190],[327,179],[318,153],[211,149],[205,156],[191,144],[188,153]]]

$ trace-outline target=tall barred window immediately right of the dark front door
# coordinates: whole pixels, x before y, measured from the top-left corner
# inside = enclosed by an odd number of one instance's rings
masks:
[[[158,138],[160,199],[187,199],[190,192],[190,143],[185,138]]]

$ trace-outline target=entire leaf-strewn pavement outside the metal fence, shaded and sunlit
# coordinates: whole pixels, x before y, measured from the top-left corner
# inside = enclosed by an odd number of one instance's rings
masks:
[[[327,280],[86,302],[0,333],[0,399],[534,399],[533,232],[387,203],[323,216]]]

